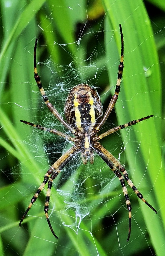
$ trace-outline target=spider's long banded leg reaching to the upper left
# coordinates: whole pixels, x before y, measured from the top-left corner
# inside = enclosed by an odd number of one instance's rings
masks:
[[[34,72],[35,72],[35,81],[37,83],[37,86],[42,94],[43,100],[45,102],[45,104],[47,105],[47,107],[49,108],[49,110],[52,112],[52,114],[64,125],[64,127],[66,127],[69,131],[71,131],[72,133],[75,133],[76,131],[71,128],[71,126],[69,126],[64,120],[63,118],[60,116],[59,112],[57,111],[57,109],[52,105],[52,103],[49,102],[48,97],[46,96],[46,93],[42,87],[42,83],[40,81],[40,77],[37,73],[37,68],[36,68],[36,48],[37,48],[37,38],[35,39],[35,47],[34,47]]]

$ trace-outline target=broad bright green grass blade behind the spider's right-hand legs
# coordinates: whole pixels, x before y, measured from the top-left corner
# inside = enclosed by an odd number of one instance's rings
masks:
[[[115,73],[118,65],[114,55],[118,56],[119,59],[121,51],[120,33],[116,32],[113,37],[114,31],[119,31],[119,23],[122,24],[125,41],[124,76],[121,84],[121,93],[115,108],[119,124],[150,114],[160,117],[161,84],[159,61],[150,21],[143,3],[140,0],[136,1],[136,3],[132,1],[116,1],[115,5],[113,5],[112,1],[105,0],[104,4],[108,17],[106,20],[106,49],[108,72],[112,86],[116,83]],[[127,8],[125,8],[126,5]],[[125,11],[123,12],[123,10]],[[141,14],[140,19],[138,18],[139,13]],[[114,40],[116,40],[117,48]],[[113,54],[109,48],[109,42],[111,42],[110,46],[113,48]],[[116,65],[114,66],[114,64]],[[114,93],[113,87],[111,92],[112,94]],[[160,101],[153,105],[155,99]],[[136,185],[139,183],[140,186],[145,187],[144,196],[147,196],[147,200],[152,202],[155,208],[157,206],[158,214],[161,214],[161,218],[164,219],[165,209],[161,204],[161,199],[162,193],[163,197],[165,196],[165,177],[161,170],[161,146],[159,146],[161,142],[158,139],[161,137],[161,131],[160,129],[155,129],[155,125],[156,127],[161,127],[159,118],[155,117],[153,120],[148,120],[135,128],[131,128],[130,135],[126,130],[121,132],[121,135],[126,145],[125,152],[130,165],[130,172],[132,172]],[[133,130],[136,130],[136,132],[133,132]],[[143,176],[146,177],[146,180],[142,180]],[[152,185],[148,184],[147,179]],[[152,190],[147,189],[149,185]],[[147,211],[146,206],[142,204],[141,209],[154,248],[158,255],[163,255],[164,248],[161,246],[164,244],[165,232],[162,222],[156,216],[157,218],[154,217],[154,223],[151,225],[150,220],[153,217],[153,212]],[[155,230],[157,230],[156,233]]]

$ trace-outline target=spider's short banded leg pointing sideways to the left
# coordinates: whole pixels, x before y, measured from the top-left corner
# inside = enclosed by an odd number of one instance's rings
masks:
[[[31,126],[37,128],[37,129],[40,129],[40,130],[43,130],[43,131],[54,133],[54,134],[56,134],[56,135],[58,135],[60,137],[65,138],[66,140],[75,141],[75,138],[73,138],[73,137],[71,137],[71,136],[69,136],[69,135],[67,135],[67,134],[65,134],[65,133],[63,133],[61,131],[58,131],[56,129],[46,128],[46,127],[43,127],[41,125],[35,125],[33,123],[30,123],[30,122],[27,122],[27,121],[23,121],[23,120],[20,120],[20,122],[22,122],[24,124],[27,124],[27,125],[31,125]]]

